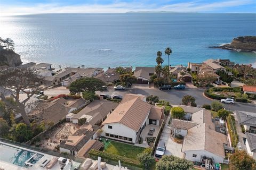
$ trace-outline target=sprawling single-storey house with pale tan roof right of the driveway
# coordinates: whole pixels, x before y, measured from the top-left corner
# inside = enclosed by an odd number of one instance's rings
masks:
[[[212,158],[214,163],[225,161],[226,135],[215,131],[211,112],[204,108],[181,106],[191,121],[173,119],[172,134],[184,137],[181,151],[185,159],[201,162],[203,158]]]

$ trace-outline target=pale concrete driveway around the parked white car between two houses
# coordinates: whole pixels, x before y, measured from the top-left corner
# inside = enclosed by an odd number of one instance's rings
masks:
[[[182,144],[174,142],[171,138],[171,128],[167,122],[169,122],[170,116],[167,118],[165,127],[159,141],[165,141],[166,150],[164,155],[174,155],[180,158],[184,158],[184,153],[181,152]]]

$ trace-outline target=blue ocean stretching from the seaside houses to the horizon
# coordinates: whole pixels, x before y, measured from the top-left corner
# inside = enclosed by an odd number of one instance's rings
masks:
[[[171,65],[230,59],[256,66],[256,53],[209,48],[238,36],[256,36],[256,14],[125,13],[2,16],[23,63],[53,66],[154,66],[158,50],[172,48]]]

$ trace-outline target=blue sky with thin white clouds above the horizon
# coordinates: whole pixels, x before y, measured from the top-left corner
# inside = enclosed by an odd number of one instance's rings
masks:
[[[0,0],[1,15],[141,11],[255,13],[255,0]]]

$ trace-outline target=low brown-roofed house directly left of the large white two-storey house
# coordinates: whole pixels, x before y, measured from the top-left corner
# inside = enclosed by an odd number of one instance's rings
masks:
[[[94,100],[76,115],[70,117],[70,122],[78,124],[80,118],[86,117],[87,123],[100,125],[117,106],[117,103],[109,100]]]

